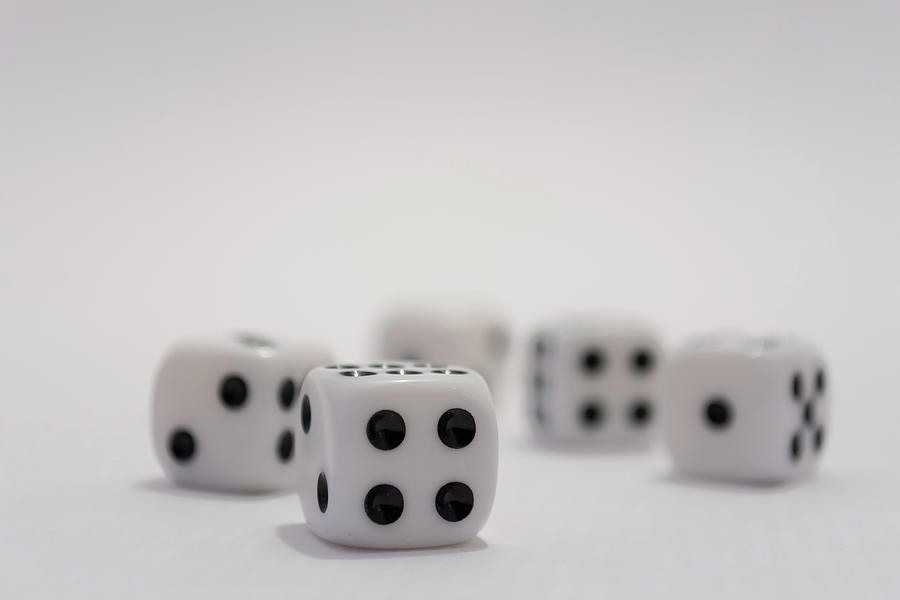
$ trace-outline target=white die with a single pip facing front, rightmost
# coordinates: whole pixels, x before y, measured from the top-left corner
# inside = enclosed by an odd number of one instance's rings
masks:
[[[809,474],[825,442],[828,383],[822,354],[796,338],[713,335],[687,344],[665,387],[675,466],[750,483]]]

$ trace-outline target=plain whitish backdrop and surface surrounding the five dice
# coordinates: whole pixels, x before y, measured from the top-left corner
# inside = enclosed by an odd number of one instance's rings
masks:
[[[0,2],[0,595],[897,597],[898,73],[893,2]],[[823,470],[538,450],[515,363],[462,547],[161,480],[174,339],[360,358],[412,294],[806,334]]]

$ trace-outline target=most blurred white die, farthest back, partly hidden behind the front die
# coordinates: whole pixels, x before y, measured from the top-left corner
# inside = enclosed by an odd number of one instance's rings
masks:
[[[436,303],[394,311],[384,320],[377,345],[385,357],[474,369],[493,389],[509,353],[509,340],[503,319],[492,311]]]

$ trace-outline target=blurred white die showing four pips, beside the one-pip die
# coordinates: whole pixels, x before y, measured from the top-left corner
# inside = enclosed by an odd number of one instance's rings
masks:
[[[663,351],[652,330],[572,317],[532,337],[529,415],[550,442],[645,445],[655,434]]]

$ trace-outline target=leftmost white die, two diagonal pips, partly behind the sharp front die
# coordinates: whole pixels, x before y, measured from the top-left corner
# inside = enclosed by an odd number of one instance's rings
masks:
[[[318,346],[250,334],[176,344],[153,392],[153,446],[166,475],[222,491],[292,488],[296,392],[329,361]]]

